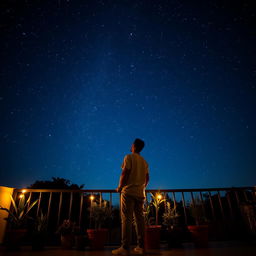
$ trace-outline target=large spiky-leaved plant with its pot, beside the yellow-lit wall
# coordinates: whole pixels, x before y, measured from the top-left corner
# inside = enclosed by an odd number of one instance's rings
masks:
[[[31,209],[35,206],[38,200],[30,203],[31,196],[25,199],[24,193],[19,196],[19,203],[16,204],[12,195],[10,195],[13,211],[0,206],[0,210],[8,212],[8,217],[5,220],[8,222],[8,230],[6,232],[5,243],[8,249],[19,249],[26,230],[26,222],[30,218],[28,216]]]

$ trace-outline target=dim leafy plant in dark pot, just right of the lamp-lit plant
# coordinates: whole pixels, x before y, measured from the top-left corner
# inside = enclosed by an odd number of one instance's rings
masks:
[[[172,207],[171,203],[167,202],[163,214],[163,225],[166,226],[168,247],[181,247],[183,229],[179,225],[179,216],[176,207]]]

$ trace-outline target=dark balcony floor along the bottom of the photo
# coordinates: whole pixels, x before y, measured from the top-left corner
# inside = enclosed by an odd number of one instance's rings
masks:
[[[111,256],[111,250],[116,247],[106,247],[101,251],[63,250],[60,247],[47,247],[43,251],[32,251],[30,247],[22,247],[20,251],[0,249],[0,255],[6,256]],[[184,244],[183,248],[150,250],[149,256],[255,256],[256,244],[241,242],[211,242],[208,248],[194,248],[193,244]]]

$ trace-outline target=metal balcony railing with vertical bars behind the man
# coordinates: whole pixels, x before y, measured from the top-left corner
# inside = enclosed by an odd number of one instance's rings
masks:
[[[79,226],[88,228],[89,211],[94,200],[101,204],[103,200],[116,208],[118,212],[120,195],[115,190],[60,190],[60,189],[15,189],[13,196],[16,201],[23,193],[31,201],[38,199],[33,209],[34,215],[43,211],[47,215],[48,229],[54,231],[64,219],[70,219]],[[212,223],[238,223],[243,222],[248,232],[256,233],[256,218],[254,214],[246,212],[251,205],[255,211],[256,187],[228,187],[228,188],[199,188],[199,189],[162,189],[147,190],[146,202],[150,203],[150,193],[161,193],[178,212],[182,225],[192,223],[191,207],[200,204],[204,209],[209,222]],[[166,201],[166,202],[167,202]],[[166,209],[166,202],[162,205],[162,213]],[[160,216],[161,223],[161,216]],[[110,239],[111,240],[111,239]],[[111,243],[111,241],[109,241]]]

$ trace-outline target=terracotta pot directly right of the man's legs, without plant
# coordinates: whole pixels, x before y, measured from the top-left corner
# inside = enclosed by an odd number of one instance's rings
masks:
[[[161,226],[146,226],[145,229],[145,249],[160,248]]]

